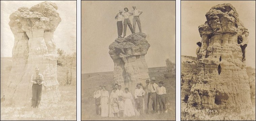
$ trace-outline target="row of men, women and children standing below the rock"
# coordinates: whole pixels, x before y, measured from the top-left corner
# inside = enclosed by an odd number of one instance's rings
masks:
[[[102,117],[131,117],[146,113],[157,113],[158,104],[160,113],[166,111],[166,89],[163,81],[155,83],[155,77],[146,80],[147,85],[136,84],[134,94],[129,92],[129,88],[121,90],[122,86],[114,84],[109,96],[106,86],[99,86],[99,90],[94,92],[96,114]],[[145,107],[147,100],[147,108]],[[153,109],[153,110],[152,110]]]

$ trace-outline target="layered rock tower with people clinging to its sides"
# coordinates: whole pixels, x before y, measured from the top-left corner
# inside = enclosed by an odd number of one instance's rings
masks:
[[[237,43],[238,36],[247,39],[249,32],[231,4],[216,5],[205,16],[207,21],[198,27],[202,58],[197,60],[198,73],[189,103],[203,107],[250,106],[246,65]]]

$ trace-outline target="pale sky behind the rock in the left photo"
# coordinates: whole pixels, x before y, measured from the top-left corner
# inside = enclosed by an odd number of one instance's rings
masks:
[[[1,0],[1,57],[11,57],[14,36],[9,27],[9,16],[20,7],[32,7],[45,0],[2,1]],[[51,1],[51,0],[48,0]],[[54,32],[57,48],[67,53],[76,52],[76,1],[51,1],[58,6],[61,22]]]

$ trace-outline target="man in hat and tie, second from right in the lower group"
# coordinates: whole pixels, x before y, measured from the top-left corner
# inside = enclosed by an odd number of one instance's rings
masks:
[[[150,106],[152,104],[152,108],[153,108],[153,113],[157,112],[157,94],[156,94],[156,90],[158,88],[158,85],[155,83],[156,78],[155,77],[151,77],[151,84],[149,85],[149,90],[150,90]]]

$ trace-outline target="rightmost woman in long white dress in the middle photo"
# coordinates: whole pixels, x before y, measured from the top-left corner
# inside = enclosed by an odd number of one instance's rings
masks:
[[[123,94],[123,98],[124,98],[124,117],[135,116],[134,106],[132,104],[133,97],[132,97],[132,94],[129,92],[128,88],[125,88],[125,93]]]

